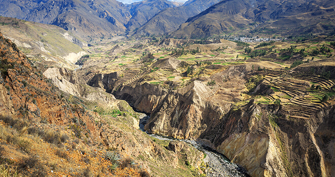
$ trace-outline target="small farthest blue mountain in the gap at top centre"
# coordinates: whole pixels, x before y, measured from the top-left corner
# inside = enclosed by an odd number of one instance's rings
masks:
[[[132,3],[128,5],[132,17],[125,26],[130,31],[135,30],[145,24],[151,17],[161,10],[177,6],[180,6],[180,4],[166,0],[145,0]]]

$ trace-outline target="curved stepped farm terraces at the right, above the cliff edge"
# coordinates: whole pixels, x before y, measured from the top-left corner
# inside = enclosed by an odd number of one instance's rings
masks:
[[[327,107],[325,95],[333,96],[335,82],[315,74],[304,74],[295,71],[266,70],[263,83],[274,91],[259,99],[260,103],[281,103],[291,117],[309,119],[317,110]],[[312,86],[313,85],[313,86]]]

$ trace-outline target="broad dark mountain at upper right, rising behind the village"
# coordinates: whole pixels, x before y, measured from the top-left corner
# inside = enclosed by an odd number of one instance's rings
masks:
[[[220,34],[334,34],[334,1],[224,0],[189,18],[174,38],[207,38]]]

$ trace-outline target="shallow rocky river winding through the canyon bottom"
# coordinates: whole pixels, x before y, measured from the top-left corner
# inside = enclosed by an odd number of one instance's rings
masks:
[[[140,129],[145,132],[144,126],[147,123],[147,120],[150,119],[150,116],[140,113]],[[209,177],[219,177],[219,176],[249,176],[247,171],[240,167],[239,165],[230,162],[223,154],[211,149],[204,141],[201,140],[188,140],[188,139],[175,139],[171,137],[163,137],[154,134],[148,134],[151,137],[160,139],[160,140],[179,140],[184,141],[188,144],[194,146],[197,150],[204,152],[206,158],[204,162],[208,165],[206,176]]]

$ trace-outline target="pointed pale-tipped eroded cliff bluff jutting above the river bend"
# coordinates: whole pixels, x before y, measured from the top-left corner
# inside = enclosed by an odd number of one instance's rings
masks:
[[[145,129],[181,139],[199,137],[223,115],[219,106],[207,101],[211,94],[213,91],[201,81],[170,92],[151,113]]]

